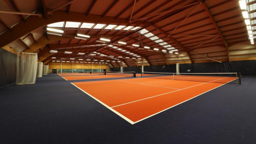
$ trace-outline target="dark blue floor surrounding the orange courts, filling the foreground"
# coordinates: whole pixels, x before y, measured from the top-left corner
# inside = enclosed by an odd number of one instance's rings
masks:
[[[255,77],[134,125],[70,82],[49,74],[33,85],[0,89],[0,144],[256,143]]]

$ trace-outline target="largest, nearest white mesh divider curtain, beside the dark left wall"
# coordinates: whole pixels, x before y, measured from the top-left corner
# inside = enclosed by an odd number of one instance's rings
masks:
[[[34,84],[37,72],[37,53],[18,52],[16,85]]]

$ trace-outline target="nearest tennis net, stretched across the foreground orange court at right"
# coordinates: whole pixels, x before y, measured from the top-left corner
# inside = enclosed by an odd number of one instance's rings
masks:
[[[143,72],[141,77],[157,79],[213,82],[213,83],[235,83],[241,84],[241,76],[237,73],[157,73]]]

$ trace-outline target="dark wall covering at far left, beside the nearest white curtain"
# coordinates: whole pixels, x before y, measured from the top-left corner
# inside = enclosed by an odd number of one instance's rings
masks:
[[[17,55],[0,48],[0,88],[15,83]]]

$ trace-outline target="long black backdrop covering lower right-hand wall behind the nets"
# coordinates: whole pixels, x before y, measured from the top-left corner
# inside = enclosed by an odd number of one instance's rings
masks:
[[[111,68],[120,71],[120,68]],[[124,67],[124,72],[141,73],[141,67]],[[176,73],[176,64],[144,66],[144,72]],[[241,73],[242,76],[256,76],[256,60],[180,64],[180,73]]]

